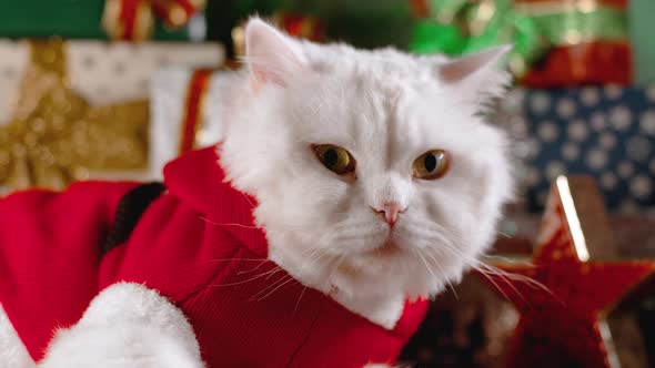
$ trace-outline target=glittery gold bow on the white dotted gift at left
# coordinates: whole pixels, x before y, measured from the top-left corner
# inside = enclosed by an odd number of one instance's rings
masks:
[[[62,188],[91,171],[145,168],[148,103],[91,106],[68,85],[61,40],[30,47],[12,120],[0,125],[0,186]]]

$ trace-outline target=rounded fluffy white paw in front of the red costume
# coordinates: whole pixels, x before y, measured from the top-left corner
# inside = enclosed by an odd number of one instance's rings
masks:
[[[157,292],[121,283],[100,293],[80,321],[57,331],[41,368],[203,367],[193,330]]]

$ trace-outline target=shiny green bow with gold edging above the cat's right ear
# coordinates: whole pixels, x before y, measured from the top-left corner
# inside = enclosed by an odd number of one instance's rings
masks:
[[[537,24],[514,10],[512,0],[435,0],[431,7],[436,21],[416,24],[410,44],[414,52],[460,55],[513,43],[508,65],[522,75],[547,50]]]

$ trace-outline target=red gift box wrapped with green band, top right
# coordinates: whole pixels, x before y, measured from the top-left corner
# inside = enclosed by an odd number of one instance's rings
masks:
[[[517,0],[516,7],[534,20],[550,45],[546,55],[523,78],[524,84],[632,83],[627,1]]]

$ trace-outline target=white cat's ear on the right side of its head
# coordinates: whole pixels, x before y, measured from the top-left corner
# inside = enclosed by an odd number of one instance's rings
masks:
[[[501,60],[512,45],[506,44],[440,64],[439,78],[457,90],[466,102],[484,109],[491,99],[503,94],[511,82]]]

